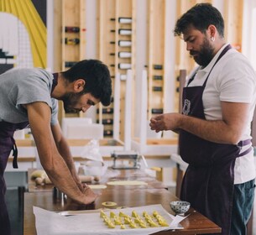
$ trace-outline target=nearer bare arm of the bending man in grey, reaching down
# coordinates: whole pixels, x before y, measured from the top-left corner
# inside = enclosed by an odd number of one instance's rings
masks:
[[[71,171],[60,156],[50,129],[50,107],[44,102],[33,102],[26,105],[29,124],[39,152],[44,170],[56,187],[73,200],[89,204],[96,196],[86,196],[76,185]]]

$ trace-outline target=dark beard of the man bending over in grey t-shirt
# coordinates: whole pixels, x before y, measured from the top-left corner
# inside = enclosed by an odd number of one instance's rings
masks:
[[[81,92],[80,93],[69,92],[60,98],[63,102],[63,107],[64,107],[65,112],[77,113],[77,112],[81,111],[81,110],[74,108],[76,106],[76,103],[78,102],[79,98],[81,97],[81,95],[82,95]]]

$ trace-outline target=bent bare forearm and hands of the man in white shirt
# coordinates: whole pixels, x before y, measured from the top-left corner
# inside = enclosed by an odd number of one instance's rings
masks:
[[[180,113],[165,113],[151,119],[155,131],[183,129],[200,138],[220,143],[238,144],[248,123],[247,103],[222,102],[222,120],[209,121]]]

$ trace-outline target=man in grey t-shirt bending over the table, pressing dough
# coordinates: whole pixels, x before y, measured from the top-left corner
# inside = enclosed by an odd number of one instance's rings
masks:
[[[31,128],[40,162],[50,180],[65,195],[81,204],[91,204],[97,196],[82,185],[76,174],[71,151],[58,123],[58,100],[66,112],[86,112],[102,102],[111,102],[112,82],[107,66],[99,60],[82,60],[68,71],[55,74],[43,69],[13,69],[0,76],[0,224],[1,234],[9,235],[10,224],[4,200],[3,172],[13,149],[13,133]]]

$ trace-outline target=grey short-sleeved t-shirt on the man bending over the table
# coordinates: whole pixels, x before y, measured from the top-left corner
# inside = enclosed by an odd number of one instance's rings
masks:
[[[51,108],[51,124],[58,122],[58,102],[50,97],[53,75],[43,69],[14,68],[0,75],[0,121],[22,123],[28,121],[22,106],[45,102]]]

